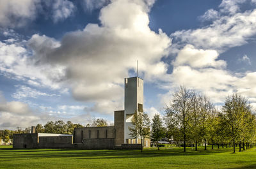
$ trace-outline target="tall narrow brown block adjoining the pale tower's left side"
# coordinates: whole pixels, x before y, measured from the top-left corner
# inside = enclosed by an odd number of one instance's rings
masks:
[[[115,145],[124,143],[124,110],[115,111]]]

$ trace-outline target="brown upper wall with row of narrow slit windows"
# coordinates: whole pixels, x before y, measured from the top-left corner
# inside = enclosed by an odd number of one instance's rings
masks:
[[[108,126],[74,129],[74,143],[82,143],[82,140],[85,138],[115,138],[115,127]]]

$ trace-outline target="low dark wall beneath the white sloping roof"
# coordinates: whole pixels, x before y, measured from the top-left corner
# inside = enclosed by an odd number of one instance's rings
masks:
[[[73,136],[40,136],[38,148],[72,148]]]

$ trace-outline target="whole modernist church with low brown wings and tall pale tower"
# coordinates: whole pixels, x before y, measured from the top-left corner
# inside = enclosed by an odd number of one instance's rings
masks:
[[[143,112],[143,79],[124,79],[124,110],[114,112],[114,126],[75,128],[73,135],[35,133],[13,135],[13,148],[140,149],[150,139],[132,138],[134,113]],[[32,145],[33,143],[33,145]]]

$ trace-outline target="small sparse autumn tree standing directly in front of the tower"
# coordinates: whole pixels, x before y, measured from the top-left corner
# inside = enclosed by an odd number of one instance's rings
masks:
[[[145,112],[135,112],[132,115],[132,127],[129,133],[133,138],[141,139],[141,152],[143,151],[143,140],[150,136],[150,119]]]

